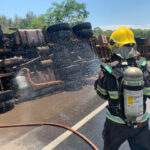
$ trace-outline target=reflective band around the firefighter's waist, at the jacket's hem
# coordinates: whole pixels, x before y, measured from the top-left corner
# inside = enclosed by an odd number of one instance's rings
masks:
[[[119,123],[119,124],[125,124],[125,122],[118,116],[114,116],[112,115],[109,110],[106,110],[106,117],[110,120],[112,120],[113,122]],[[149,114],[147,112],[145,112],[145,114],[143,115],[142,119],[141,119],[141,123],[147,121],[147,119],[149,118]]]

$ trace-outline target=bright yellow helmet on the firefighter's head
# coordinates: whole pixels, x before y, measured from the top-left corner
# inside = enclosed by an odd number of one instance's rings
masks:
[[[126,44],[135,44],[134,34],[133,32],[126,28],[120,27],[116,31],[114,31],[109,38],[109,47],[112,51],[113,47],[121,47]]]

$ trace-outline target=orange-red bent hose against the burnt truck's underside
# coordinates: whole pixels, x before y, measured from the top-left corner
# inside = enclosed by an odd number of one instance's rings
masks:
[[[27,78],[29,80],[29,82],[34,85],[34,86],[42,86],[42,85],[49,85],[49,84],[59,84],[59,83],[63,83],[63,81],[61,80],[56,80],[56,81],[48,81],[48,82],[43,82],[43,83],[35,83],[32,81],[31,77],[30,77],[30,70],[28,68],[22,68],[20,71],[26,70],[27,71]]]

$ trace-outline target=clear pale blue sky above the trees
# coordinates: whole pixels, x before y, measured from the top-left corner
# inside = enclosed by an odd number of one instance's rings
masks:
[[[37,16],[46,13],[52,2],[63,0],[0,0],[0,15],[25,17],[29,11]],[[77,0],[86,4],[92,27],[103,30],[120,26],[150,29],[150,0]]]

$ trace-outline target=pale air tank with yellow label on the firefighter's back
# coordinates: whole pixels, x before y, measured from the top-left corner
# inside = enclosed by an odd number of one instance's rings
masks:
[[[143,117],[143,72],[128,67],[123,75],[124,113],[127,121],[137,122]]]

